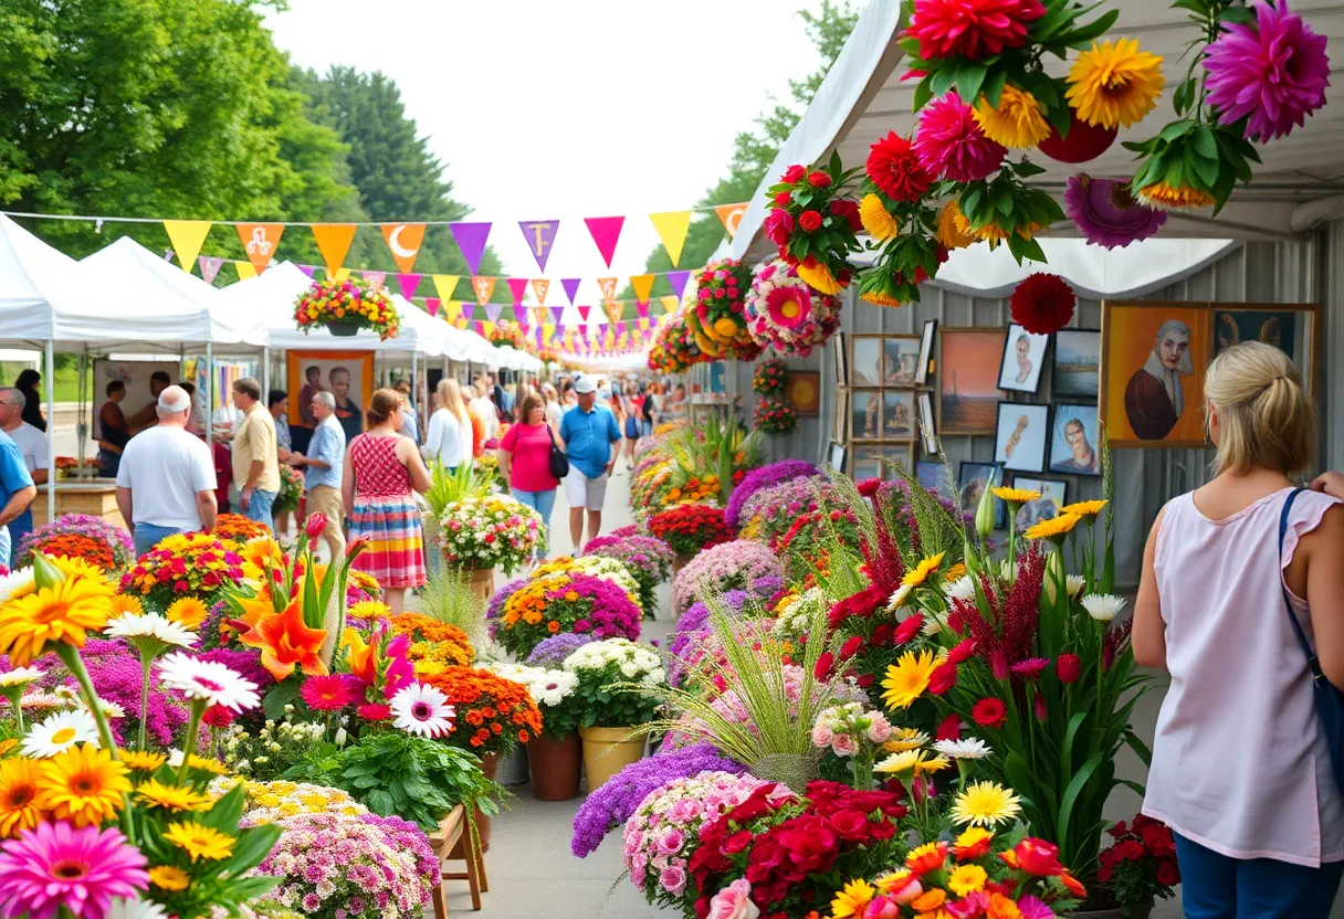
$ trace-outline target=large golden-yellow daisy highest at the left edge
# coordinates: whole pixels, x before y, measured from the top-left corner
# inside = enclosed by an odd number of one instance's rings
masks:
[[[0,653],[11,666],[27,666],[48,642],[83,648],[112,613],[112,587],[101,578],[66,578],[0,605]]]

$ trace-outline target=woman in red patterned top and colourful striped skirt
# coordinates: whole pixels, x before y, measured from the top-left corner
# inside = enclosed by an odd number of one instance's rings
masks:
[[[401,395],[379,390],[368,403],[368,430],[349,442],[341,496],[349,508],[349,540],[367,540],[353,567],[378,578],[383,602],[401,613],[406,588],[425,583],[425,537],[414,489],[423,494],[430,474],[402,426]]]

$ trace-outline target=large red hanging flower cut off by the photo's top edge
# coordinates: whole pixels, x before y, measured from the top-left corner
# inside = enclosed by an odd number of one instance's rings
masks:
[[[1046,15],[1040,0],[915,0],[906,35],[925,60],[981,60],[1027,43],[1027,26]]]

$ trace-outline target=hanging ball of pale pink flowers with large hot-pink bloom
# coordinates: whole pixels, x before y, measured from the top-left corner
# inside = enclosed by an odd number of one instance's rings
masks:
[[[758,345],[806,357],[840,328],[840,300],[813,290],[798,277],[798,269],[781,258],[757,273],[747,293],[746,316],[747,329]],[[761,364],[758,374],[759,369]],[[754,380],[753,388],[763,392]]]

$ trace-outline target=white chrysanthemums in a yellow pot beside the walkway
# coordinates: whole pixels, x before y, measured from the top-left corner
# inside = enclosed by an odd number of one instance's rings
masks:
[[[593,791],[644,756],[642,728],[657,715],[655,699],[621,684],[661,687],[667,672],[656,650],[625,638],[583,645],[564,658],[564,669],[577,677],[583,769]]]

